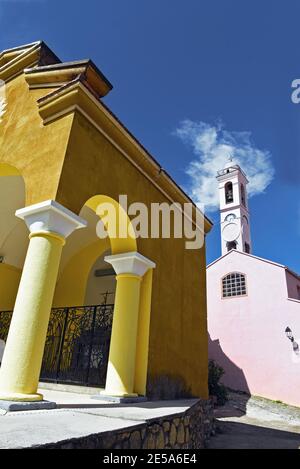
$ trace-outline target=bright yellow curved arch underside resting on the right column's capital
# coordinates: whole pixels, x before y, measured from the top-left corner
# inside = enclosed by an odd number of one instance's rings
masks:
[[[92,209],[103,222],[112,254],[137,251],[133,226],[119,202],[106,195],[95,195],[85,203],[85,206]]]

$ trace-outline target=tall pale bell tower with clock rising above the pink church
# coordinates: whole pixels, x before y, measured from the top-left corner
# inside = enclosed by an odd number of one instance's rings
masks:
[[[222,256],[231,249],[252,252],[245,173],[232,159],[218,171]]]

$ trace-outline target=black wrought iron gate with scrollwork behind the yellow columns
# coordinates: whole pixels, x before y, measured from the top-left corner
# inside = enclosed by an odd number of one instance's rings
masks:
[[[112,304],[54,308],[51,311],[41,381],[105,385]],[[0,339],[7,338],[11,312],[0,312]]]

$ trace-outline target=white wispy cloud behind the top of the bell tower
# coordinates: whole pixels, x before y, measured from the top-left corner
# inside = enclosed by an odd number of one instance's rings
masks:
[[[175,135],[192,147],[195,156],[186,170],[190,185],[185,189],[198,205],[204,205],[208,211],[219,207],[216,175],[230,156],[246,173],[250,196],[264,192],[274,177],[270,152],[255,146],[251,132],[230,132],[221,123],[210,125],[184,120]]]

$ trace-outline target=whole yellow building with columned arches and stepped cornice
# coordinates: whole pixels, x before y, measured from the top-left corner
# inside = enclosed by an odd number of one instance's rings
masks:
[[[0,400],[41,401],[40,380],[207,399],[205,244],[138,238],[119,202],[190,199],[105,105],[92,61],[36,42],[0,54],[0,80]],[[125,235],[102,220],[97,236],[107,203]]]

